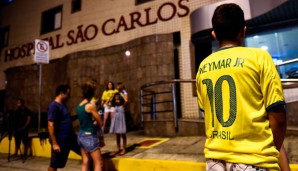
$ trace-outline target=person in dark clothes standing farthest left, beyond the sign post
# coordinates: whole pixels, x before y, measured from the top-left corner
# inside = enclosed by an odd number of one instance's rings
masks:
[[[31,111],[25,106],[23,99],[17,100],[18,109],[14,115],[14,138],[15,138],[15,153],[13,157],[18,156],[21,142],[24,144],[24,157],[27,156],[29,147],[29,123],[31,121]]]

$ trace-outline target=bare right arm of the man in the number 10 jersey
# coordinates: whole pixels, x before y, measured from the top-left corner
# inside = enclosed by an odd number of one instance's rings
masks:
[[[280,151],[287,128],[286,110],[284,105],[279,105],[268,111],[269,124],[273,133],[274,144]]]

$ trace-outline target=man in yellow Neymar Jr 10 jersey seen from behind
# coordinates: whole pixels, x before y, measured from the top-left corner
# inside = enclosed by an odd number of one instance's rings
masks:
[[[246,27],[238,5],[218,6],[212,25],[220,49],[202,61],[196,77],[205,113],[206,169],[280,170],[286,113],[272,58],[241,47]]]

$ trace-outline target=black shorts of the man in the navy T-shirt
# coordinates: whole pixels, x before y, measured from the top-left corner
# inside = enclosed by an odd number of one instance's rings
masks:
[[[61,152],[55,152],[53,148],[51,148],[51,162],[50,167],[57,169],[57,168],[64,168],[68,159],[68,154],[71,151],[81,155],[80,147],[77,143],[77,136],[74,134],[72,135],[70,140],[66,140],[64,143],[59,144]]]

